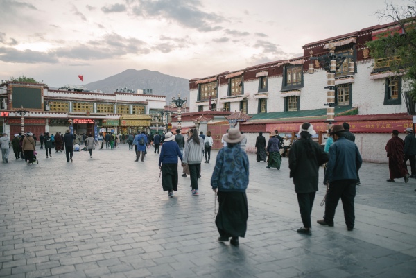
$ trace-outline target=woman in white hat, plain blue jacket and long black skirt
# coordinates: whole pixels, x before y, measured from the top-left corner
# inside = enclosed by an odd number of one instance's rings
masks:
[[[173,191],[177,191],[177,157],[182,162],[183,157],[179,146],[174,141],[175,135],[171,132],[165,134],[165,142],[162,145],[159,156],[159,169],[162,171],[163,191],[168,191],[168,196],[173,197]]]

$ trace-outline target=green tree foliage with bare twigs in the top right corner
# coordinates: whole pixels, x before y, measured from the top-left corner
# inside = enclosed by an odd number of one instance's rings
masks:
[[[379,19],[397,23],[401,33],[386,31],[379,35],[378,40],[367,42],[367,46],[374,61],[385,58],[389,60],[387,70],[405,73],[406,90],[416,100],[416,0],[409,3],[408,6],[395,6],[385,1],[385,10],[379,10],[376,15]]]

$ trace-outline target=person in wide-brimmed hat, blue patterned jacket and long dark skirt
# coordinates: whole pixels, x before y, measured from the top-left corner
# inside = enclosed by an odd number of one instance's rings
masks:
[[[238,129],[230,128],[224,140],[227,146],[221,148],[216,157],[211,177],[212,190],[218,196],[218,214],[215,224],[220,237],[218,241],[229,240],[239,245],[239,237],[247,231],[248,202],[245,190],[248,186],[249,163],[245,151],[240,147],[244,139]]]

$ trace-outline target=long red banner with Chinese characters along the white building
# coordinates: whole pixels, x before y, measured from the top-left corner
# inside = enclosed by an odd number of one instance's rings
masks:
[[[412,119],[403,120],[383,120],[383,121],[348,121],[349,131],[352,133],[391,133],[392,130],[399,130],[404,132],[406,128],[413,128]],[[270,123],[266,125],[266,130],[272,132],[279,130],[279,132],[299,132],[299,127],[302,123]],[[334,123],[342,124],[342,123]],[[313,129],[316,132],[326,132],[327,123],[319,122],[312,123]]]

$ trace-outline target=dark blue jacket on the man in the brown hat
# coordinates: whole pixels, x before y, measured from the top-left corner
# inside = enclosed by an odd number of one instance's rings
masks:
[[[324,183],[337,180],[357,180],[357,172],[361,164],[363,164],[363,159],[361,159],[356,144],[345,137],[340,137],[329,148],[329,161]]]

